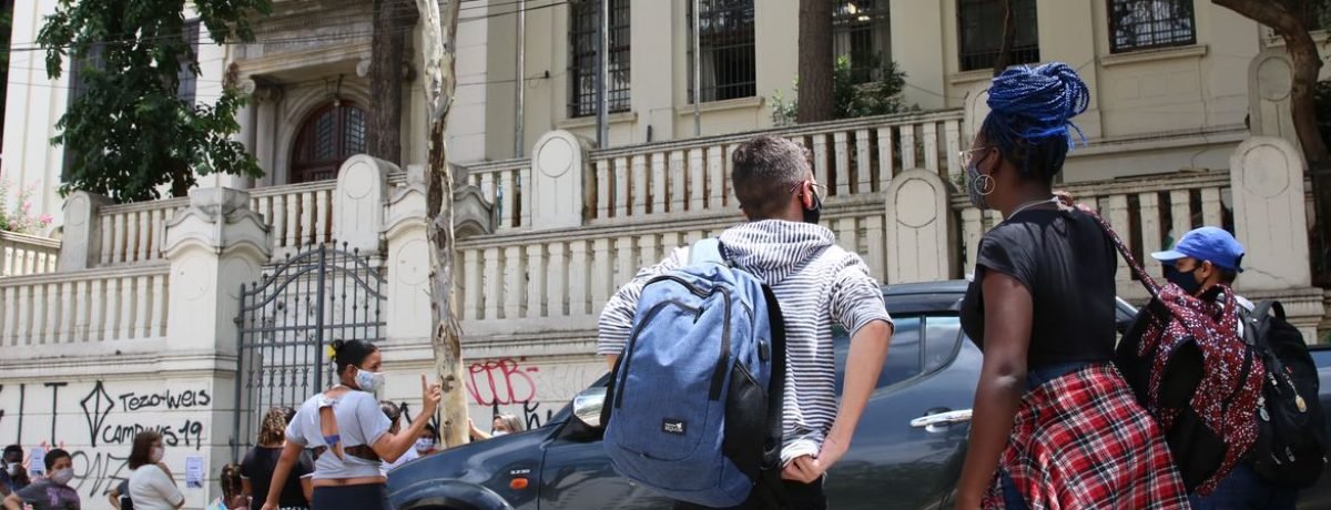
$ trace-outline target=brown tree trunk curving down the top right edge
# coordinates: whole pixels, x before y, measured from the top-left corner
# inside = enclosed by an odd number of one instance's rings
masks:
[[[1320,28],[1314,24],[1310,0],[1211,0],[1256,23],[1275,29],[1284,40],[1284,49],[1294,64],[1294,81],[1290,91],[1290,117],[1294,132],[1308,161],[1312,176],[1312,196],[1316,208],[1316,232],[1314,246],[1320,249],[1314,257],[1326,257],[1331,249],[1331,161],[1327,145],[1322,138],[1316,119],[1318,72],[1322,57],[1310,31]],[[1323,276],[1326,278],[1326,276]]]

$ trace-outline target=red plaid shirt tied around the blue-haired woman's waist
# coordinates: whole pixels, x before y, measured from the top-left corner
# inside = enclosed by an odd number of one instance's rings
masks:
[[[1036,510],[1187,507],[1155,421],[1111,365],[1028,391],[998,467]],[[998,479],[985,509],[1004,507]]]

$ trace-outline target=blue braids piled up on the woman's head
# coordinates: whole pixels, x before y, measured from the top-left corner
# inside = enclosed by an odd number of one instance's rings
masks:
[[[1069,127],[1086,142],[1070,119],[1090,105],[1090,91],[1067,64],[1009,68],[994,77],[988,103],[981,132],[1025,177],[1054,178],[1073,145]]]

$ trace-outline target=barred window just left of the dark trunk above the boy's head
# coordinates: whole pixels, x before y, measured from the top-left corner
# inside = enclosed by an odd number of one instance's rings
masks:
[[[688,1],[688,101],[693,103],[693,3]],[[699,81],[703,103],[757,93],[753,0],[697,0]],[[793,36],[793,35],[792,35]]]

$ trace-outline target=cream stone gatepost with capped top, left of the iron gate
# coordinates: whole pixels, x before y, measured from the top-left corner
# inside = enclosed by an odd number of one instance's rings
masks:
[[[264,218],[249,193],[197,188],[189,206],[166,224],[170,261],[168,340],[173,349],[236,352],[240,286],[260,278],[272,254]]]

